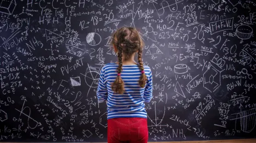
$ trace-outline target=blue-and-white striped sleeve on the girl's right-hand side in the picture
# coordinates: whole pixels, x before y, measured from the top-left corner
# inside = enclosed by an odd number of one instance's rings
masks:
[[[147,81],[147,85],[144,91],[144,100],[146,103],[149,103],[153,97],[153,84],[152,84],[152,73],[151,70],[149,72],[149,76],[148,76],[148,81]]]

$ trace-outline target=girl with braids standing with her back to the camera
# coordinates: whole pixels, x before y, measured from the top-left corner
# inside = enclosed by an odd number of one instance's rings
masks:
[[[135,28],[123,27],[112,44],[118,62],[104,65],[97,90],[98,102],[107,101],[108,142],[147,142],[144,102],[151,101],[153,87],[151,69],[142,62],[143,41]]]

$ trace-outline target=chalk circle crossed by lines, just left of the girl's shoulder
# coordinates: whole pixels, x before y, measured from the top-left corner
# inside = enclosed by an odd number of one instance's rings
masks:
[[[85,74],[85,82],[90,87],[98,87],[99,73],[96,71],[87,72]]]

